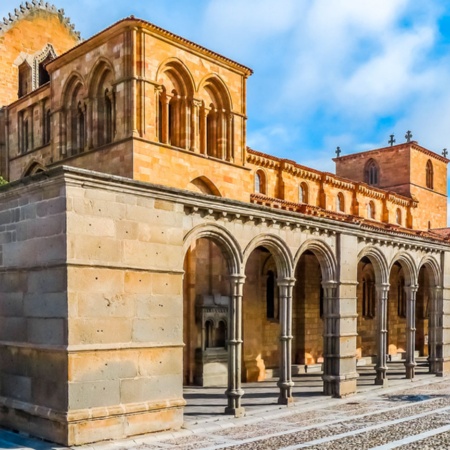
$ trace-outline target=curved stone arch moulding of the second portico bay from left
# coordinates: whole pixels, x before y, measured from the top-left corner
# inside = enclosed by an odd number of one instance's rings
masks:
[[[249,242],[244,250],[244,267],[252,252],[258,247],[265,247],[272,253],[278,271],[278,278],[292,278],[292,253],[283,239],[274,234],[256,236]]]

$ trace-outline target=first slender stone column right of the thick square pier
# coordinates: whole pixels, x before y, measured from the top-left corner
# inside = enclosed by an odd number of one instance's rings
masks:
[[[375,384],[387,386],[387,297],[389,283],[378,284],[377,291],[377,376]]]

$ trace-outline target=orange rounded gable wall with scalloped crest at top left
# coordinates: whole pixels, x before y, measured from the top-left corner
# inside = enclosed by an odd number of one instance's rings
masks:
[[[40,52],[49,43],[60,55],[78,42],[78,35],[61,13],[40,7],[26,10],[8,26],[0,27],[0,107],[18,99],[21,56]]]

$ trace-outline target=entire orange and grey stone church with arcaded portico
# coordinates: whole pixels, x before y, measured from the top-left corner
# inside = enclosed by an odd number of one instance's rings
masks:
[[[135,17],[0,22],[1,425],[76,445],[179,428],[185,385],[239,417],[243,383],[288,405],[316,366],[335,397],[362,361],[450,371],[448,159],[250,149],[251,74]]]

